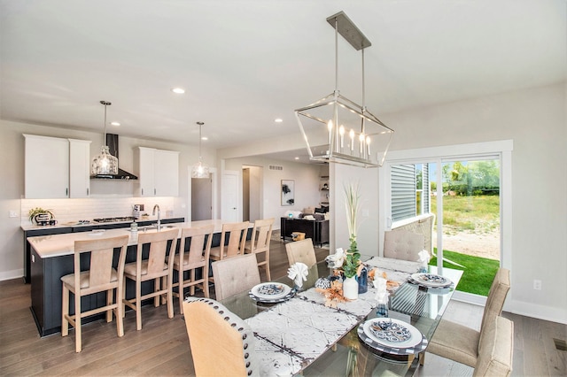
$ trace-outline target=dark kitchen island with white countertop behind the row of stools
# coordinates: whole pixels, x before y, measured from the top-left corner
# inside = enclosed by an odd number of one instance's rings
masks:
[[[167,227],[203,227],[214,224],[213,245],[218,246],[221,242],[221,220],[201,220],[192,222],[178,222],[167,224]],[[61,277],[69,273],[74,273],[74,242],[81,240],[104,239],[119,235],[128,235],[128,250],[126,263],[136,261],[137,235],[142,232],[156,232],[155,227],[139,227],[137,232],[132,232],[129,228],[117,229],[95,229],[90,232],[67,233],[63,235],[41,235],[28,237],[30,255],[30,283],[31,283],[31,311],[34,315],[35,324],[41,336],[55,334],[61,331],[61,296],[62,285]],[[252,224],[249,228],[248,236],[252,234]],[[179,244],[178,244],[179,246]],[[147,258],[149,250],[143,252],[143,258]],[[88,256],[85,255],[85,264]],[[118,252],[114,255],[114,265],[118,264]],[[82,263],[83,265],[83,263]],[[174,276],[174,279],[176,275]],[[146,281],[142,284],[143,294],[153,289],[153,282]],[[72,295],[73,296],[73,295]],[[126,296],[135,296],[135,285],[133,281],[127,280]],[[73,298],[72,298],[73,300]],[[82,297],[81,306],[84,311],[102,306],[105,304],[105,293]],[[150,300],[152,301],[152,300]],[[74,304],[71,303],[70,310]],[[83,323],[103,318],[103,314],[88,317]]]

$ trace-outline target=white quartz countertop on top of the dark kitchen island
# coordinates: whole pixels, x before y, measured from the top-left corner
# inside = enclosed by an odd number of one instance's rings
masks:
[[[166,224],[164,227],[177,227],[181,229],[183,227],[204,227],[206,225],[214,224],[214,233],[220,233],[222,230],[222,220],[211,219],[211,220],[201,220],[201,221],[191,221],[191,222],[179,222]],[[157,229],[150,228],[145,230],[146,232],[157,232]],[[119,229],[106,229],[104,231],[95,230],[92,232],[76,232],[67,233],[65,235],[39,235],[35,237],[27,237],[27,241],[30,243],[32,248],[37,252],[40,258],[52,258],[59,257],[63,255],[71,255],[74,253],[74,242],[84,241],[104,238],[112,238],[120,235],[128,235],[128,246],[137,245],[138,234],[144,232],[144,227],[139,227],[137,232],[132,232],[128,227],[122,227]]]

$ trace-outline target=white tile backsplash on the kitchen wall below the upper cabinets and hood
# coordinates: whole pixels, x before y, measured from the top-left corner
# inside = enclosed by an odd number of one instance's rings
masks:
[[[161,217],[185,217],[175,214],[174,197],[113,197],[86,199],[21,199],[21,224],[29,224],[27,212],[35,207],[50,210],[59,223],[81,219],[97,219],[132,216],[134,204],[144,204],[144,211],[151,216],[155,204],[159,204]]]

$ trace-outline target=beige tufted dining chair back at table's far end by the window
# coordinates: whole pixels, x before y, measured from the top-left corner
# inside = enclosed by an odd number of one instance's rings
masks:
[[[403,229],[384,232],[384,258],[416,262],[419,260],[419,252],[423,249],[423,235]]]

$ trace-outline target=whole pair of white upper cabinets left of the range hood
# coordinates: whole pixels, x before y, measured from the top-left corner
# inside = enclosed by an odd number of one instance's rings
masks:
[[[89,141],[39,135],[24,137],[27,199],[89,196]]]

